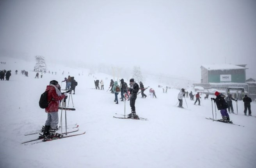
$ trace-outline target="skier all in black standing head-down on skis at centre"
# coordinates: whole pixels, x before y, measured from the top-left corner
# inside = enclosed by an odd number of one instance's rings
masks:
[[[135,111],[135,100],[137,99],[137,93],[139,92],[139,85],[134,81],[134,79],[130,79],[130,106],[132,113],[128,114],[128,118],[139,119]]]

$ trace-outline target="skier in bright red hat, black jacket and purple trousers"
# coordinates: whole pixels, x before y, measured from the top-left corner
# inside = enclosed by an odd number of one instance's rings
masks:
[[[214,102],[216,103],[217,108],[218,108],[218,110],[220,110],[220,114],[222,116],[222,119],[220,119],[218,121],[225,122],[225,123],[226,122],[232,123],[232,121],[230,121],[230,119],[229,119],[229,115],[228,115],[228,111],[227,111],[228,103],[224,99],[226,96],[219,92],[215,92],[214,95],[216,96],[216,99],[215,98],[211,98],[211,99],[214,100]]]

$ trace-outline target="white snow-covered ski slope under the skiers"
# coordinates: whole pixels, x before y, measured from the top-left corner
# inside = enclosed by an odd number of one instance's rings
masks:
[[[105,81],[105,90],[95,90],[91,89],[95,79],[88,76],[86,69],[49,64],[50,71],[57,71],[57,75],[46,73],[43,78],[35,79],[32,71],[28,72],[29,77],[20,74],[21,69],[31,70],[33,63],[19,61],[0,64],[0,69],[12,70],[10,81],[0,81],[1,168],[256,167],[256,118],[243,115],[241,101],[238,115],[231,114],[230,118],[245,127],[213,122],[205,119],[212,117],[211,100],[203,99],[202,106],[194,106],[193,101],[186,99],[188,108],[180,109],[175,107],[178,90],[164,94],[162,88],[157,88],[158,83],[147,79],[144,86],[154,88],[158,99],[138,96],[135,106],[137,114],[148,121],[116,119],[115,113],[124,114],[124,102],[115,104],[114,94],[106,92],[111,76],[96,74],[97,79]],[[67,111],[67,122],[78,123],[79,133],[86,131],[86,134],[34,145],[21,144],[38,136],[24,136],[25,133],[44,125],[46,113],[38,101],[46,85],[50,80],[60,83],[68,71],[75,76],[78,86],[73,95],[76,111]],[[84,75],[78,76],[82,71]],[[148,90],[145,93],[148,95]],[[185,101],[183,106],[187,107]],[[256,104],[251,106],[252,115],[256,116]],[[126,114],[129,112],[126,102]]]

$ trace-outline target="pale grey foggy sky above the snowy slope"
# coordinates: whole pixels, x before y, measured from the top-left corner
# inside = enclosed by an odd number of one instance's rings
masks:
[[[139,65],[200,81],[202,64],[256,78],[255,0],[0,0],[0,56]]]

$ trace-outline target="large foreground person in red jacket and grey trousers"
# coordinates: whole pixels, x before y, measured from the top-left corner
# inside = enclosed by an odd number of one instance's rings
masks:
[[[44,133],[40,135],[39,138],[54,138],[62,137],[56,132],[57,125],[59,123],[58,107],[60,100],[67,96],[67,93],[61,94],[60,85],[58,81],[52,80],[50,84],[46,87],[45,92],[47,93],[48,106],[45,108],[45,113],[47,113],[47,120],[45,121]]]

